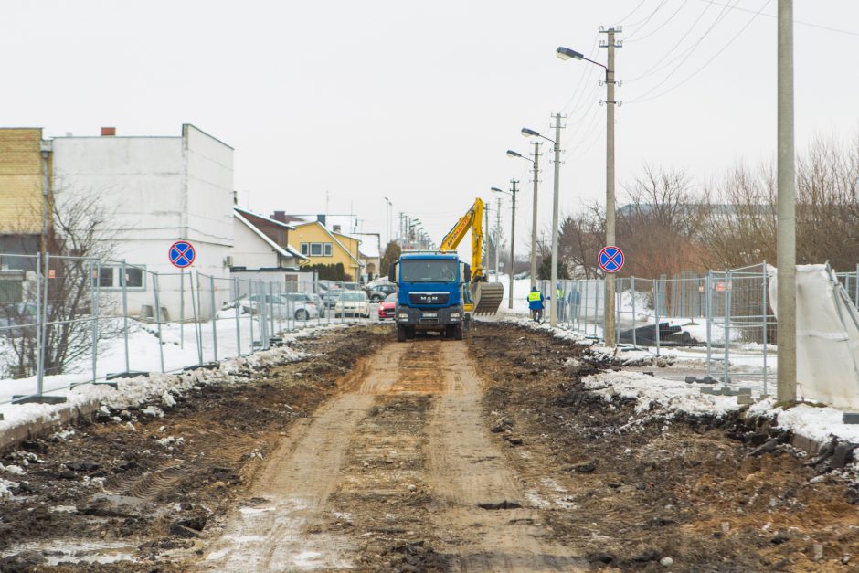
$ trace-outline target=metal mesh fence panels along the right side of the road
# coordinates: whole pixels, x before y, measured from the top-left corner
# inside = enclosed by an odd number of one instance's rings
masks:
[[[733,378],[758,380],[769,391],[775,374],[776,321],[769,305],[766,263],[729,271],[684,272],[658,279],[616,281],[616,340],[661,355],[673,347],[705,377],[724,384]],[[848,289],[859,288],[856,273],[840,275]],[[538,281],[557,324],[601,340],[605,332],[605,281]]]

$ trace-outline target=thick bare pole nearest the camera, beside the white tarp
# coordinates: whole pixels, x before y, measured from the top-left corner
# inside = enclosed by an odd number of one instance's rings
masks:
[[[779,0],[779,402],[796,399],[796,164],[793,143],[793,0]]]

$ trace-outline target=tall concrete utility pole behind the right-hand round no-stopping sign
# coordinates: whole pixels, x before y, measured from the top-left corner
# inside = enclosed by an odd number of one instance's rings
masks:
[[[600,33],[608,35],[608,41],[602,44],[609,48],[609,58],[606,65],[606,247],[615,246],[614,232],[614,107],[617,101],[614,99],[614,48],[620,48],[620,43],[615,43],[614,35],[620,32],[620,28],[610,27],[608,30],[601,29]],[[614,273],[606,273],[605,291],[605,332],[603,340],[605,345],[614,346],[615,340],[615,280]]]

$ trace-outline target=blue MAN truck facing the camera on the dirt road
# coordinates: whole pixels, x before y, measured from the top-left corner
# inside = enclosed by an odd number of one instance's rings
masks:
[[[462,340],[466,321],[463,288],[472,271],[455,251],[408,251],[391,264],[388,280],[398,285],[394,309],[397,340],[417,332],[438,332]]]

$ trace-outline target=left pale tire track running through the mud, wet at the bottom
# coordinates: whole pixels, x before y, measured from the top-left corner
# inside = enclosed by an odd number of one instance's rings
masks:
[[[208,547],[201,568],[217,571],[348,568],[353,543],[345,536],[305,532],[319,527],[334,491],[350,437],[373,405],[375,394],[398,379],[406,348],[388,345],[347,375],[348,391],[327,402],[313,418],[296,424],[237,515]]]

